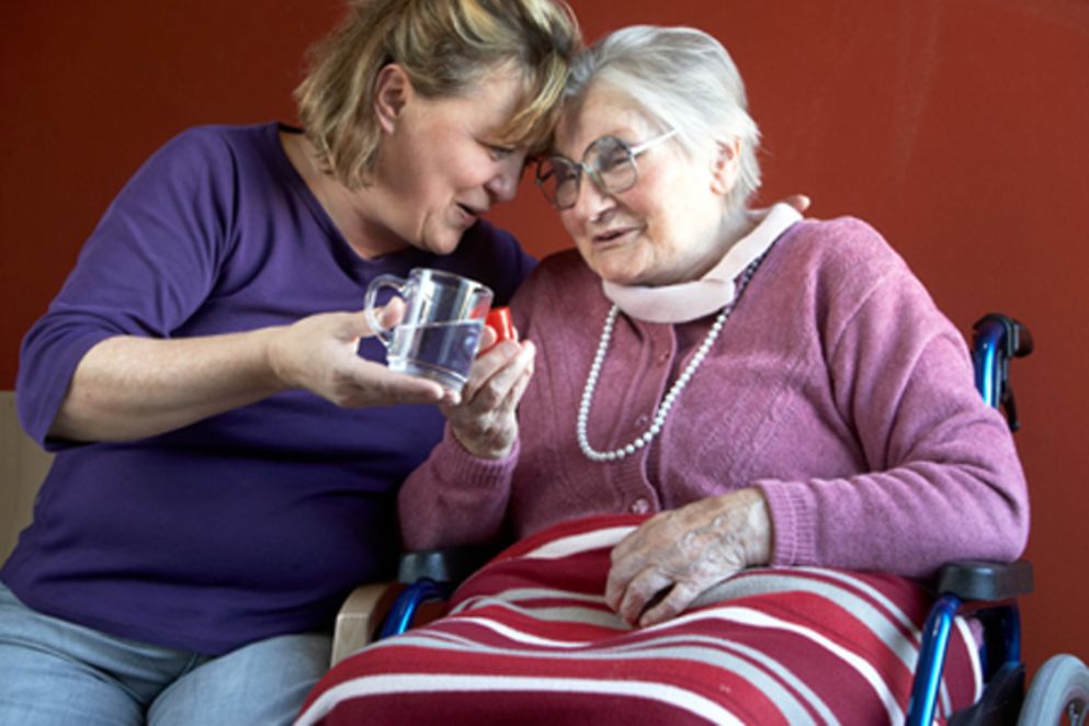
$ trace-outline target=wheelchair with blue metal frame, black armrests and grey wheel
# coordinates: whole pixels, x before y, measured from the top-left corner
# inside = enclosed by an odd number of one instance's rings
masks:
[[[1009,383],[1009,364],[1032,352],[1032,337],[1022,324],[989,314],[973,326],[975,382],[988,405],[1001,409],[1011,431],[1020,428]],[[489,553],[479,549],[408,553],[398,580],[407,586],[383,622],[377,638],[405,632],[421,604],[443,600],[456,583],[480,567]],[[1071,655],[1048,659],[1025,690],[1021,660],[1020,617],[1016,599],[1032,591],[1032,566],[986,561],[950,563],[934,581],[935,601],[922,631],[906,723],[934,719],[945,649],[957,614],[971,613],[984,628],[980,667],[983,695],[954,714],[950,724],[1084,724],[1089,714],[1089,668]]]

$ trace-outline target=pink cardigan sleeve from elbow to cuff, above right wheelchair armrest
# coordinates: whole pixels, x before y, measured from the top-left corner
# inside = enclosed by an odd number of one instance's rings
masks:
[[[772,564],[928,576],[950,559],[1017,558],[1028,535],[1024,480],[997,440],[986,456],[919,461],[842,479],[761,480]],[[988,457],[990,461],[987,461]]]

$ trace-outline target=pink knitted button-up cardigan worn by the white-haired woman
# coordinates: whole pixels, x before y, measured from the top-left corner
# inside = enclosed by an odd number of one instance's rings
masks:
[[[851,218],[801,222],[770,250],[654,442],[591,463],[576,416],[610,303],[574,251],[514,298],[538,347],[508,458],[449,431],[406,483],[413,548],[521,537],[604,512],[660,511],[748,486],[771,508],[774,565],[907,576],[952,558],[1017,557],[1028,497],[1012,438],[976,393],[966,347],[905,262]],[[647,429],[714,316],[621,315],[588,432],[599,451]]]

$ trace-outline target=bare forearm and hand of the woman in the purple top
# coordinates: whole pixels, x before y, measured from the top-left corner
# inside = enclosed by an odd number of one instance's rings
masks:
[[[80,360],[49,435],[75,441],[149,436],[288,388],[348,408],[438,404],[438,383],[359,354],[362,313],[188,339],[107,338]]]

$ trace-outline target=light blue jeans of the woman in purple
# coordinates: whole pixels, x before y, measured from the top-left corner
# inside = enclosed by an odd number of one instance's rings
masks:
[[[43,615],[0,585],[0,724],[290,724],[331,645],[303,634],[223,656],[162,648]]]

